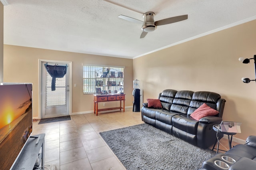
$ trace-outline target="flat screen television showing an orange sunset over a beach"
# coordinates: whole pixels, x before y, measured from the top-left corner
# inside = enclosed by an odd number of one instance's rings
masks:
[[[14,164],[32,133],[32,84],[0,83],[0,169]]]

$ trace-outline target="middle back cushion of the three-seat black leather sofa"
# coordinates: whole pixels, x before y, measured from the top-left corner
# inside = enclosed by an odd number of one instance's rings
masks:
[[[194,91],[178,91],[172,101],[170,111],[187,114]]]

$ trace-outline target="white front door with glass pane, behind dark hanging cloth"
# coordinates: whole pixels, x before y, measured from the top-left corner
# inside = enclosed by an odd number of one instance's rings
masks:
[[[47,62],[48,65],[65,66],[66,75],[56,78],[55,90],[52,91],[52,77],[41,62],[41,118],[70,115],[70,63],[65,61]]]

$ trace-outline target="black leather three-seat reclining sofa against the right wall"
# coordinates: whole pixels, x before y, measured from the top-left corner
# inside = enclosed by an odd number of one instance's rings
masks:
[[[162,109],[149,108],[148,103],[142,104],[142,121],[201,148],[214,144],[216,132],[212,126],[221,123],[226,102],[219,94],[166,89],[159,94],[158,99]],[[190,117],[203,103],[219,111],[219,114],[203,117],[199,121]]]

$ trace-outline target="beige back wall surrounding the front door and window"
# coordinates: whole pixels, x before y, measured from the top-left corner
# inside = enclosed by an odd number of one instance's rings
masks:
[[[93,111],[93,95],[83,94],[83,64],[124,66],[125,103],[126,107],[132,106],[132,59],[4,45],[4,82],[33,83],[33,117],[38,117],[39,108],[39,59],[72,61],[72,113]],[[109,102],[105,107],[117,104],[118,102]],[[102,103],[99,107],[102,107]]]

